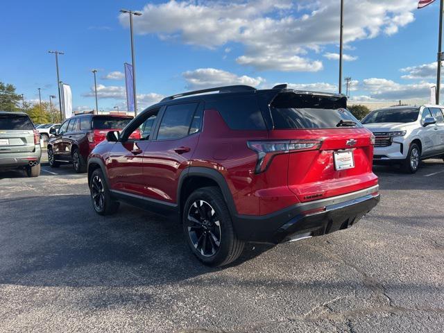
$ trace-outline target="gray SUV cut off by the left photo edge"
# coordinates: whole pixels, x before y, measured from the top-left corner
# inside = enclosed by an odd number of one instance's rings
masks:
[[[0,171],[25,169],[28,177],[37,177],[40,157],[40,133],[28,114],[0,111]]]

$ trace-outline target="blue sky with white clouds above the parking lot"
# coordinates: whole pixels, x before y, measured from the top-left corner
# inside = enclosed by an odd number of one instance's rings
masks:
[[[429,100],[436,84],[439,1],[346,0],[343,76],[355,101]],[[339,0],[11,1],[0,4],[0,81],[31,102],[58,95],[92,110],[126,109],[123,63],[131,62],[134,18],[139,109],[163,96],[221,85],[337,92]],[[56,103],[58,103],[56,101]]]

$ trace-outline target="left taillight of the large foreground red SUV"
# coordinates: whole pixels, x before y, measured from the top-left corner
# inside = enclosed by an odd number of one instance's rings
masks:
[[[316,151],[321,148],[322,140],[278,140],[278,141],[249,141],[248,148],[257,153],[255,173],[266,170],[275,155],[296,153],[298,151]]]

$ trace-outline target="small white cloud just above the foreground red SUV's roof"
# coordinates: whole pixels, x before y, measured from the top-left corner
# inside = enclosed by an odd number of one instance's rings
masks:
[[[182,76],[187,81],[189,89],[205,89],[211,87],[221,87],[223,85],[257,85],[264,83],[264,78],[258,76],[251,78],[250,76],[237,76],[229,71],[214,68],[199,68],[194,71],[185,71]]]

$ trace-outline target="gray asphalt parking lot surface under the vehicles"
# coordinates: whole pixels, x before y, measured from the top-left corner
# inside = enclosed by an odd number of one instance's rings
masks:
[[[70,167],[0,173],[0,332],[443,332],[444,163],[375,173],[358,225],[223,269],[174,221],[94,214]]]

